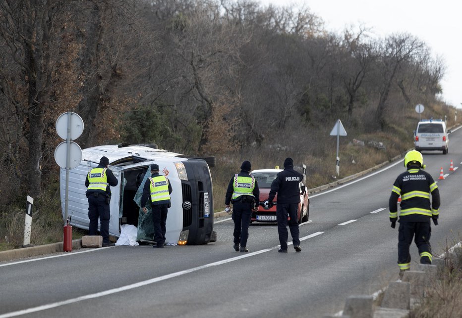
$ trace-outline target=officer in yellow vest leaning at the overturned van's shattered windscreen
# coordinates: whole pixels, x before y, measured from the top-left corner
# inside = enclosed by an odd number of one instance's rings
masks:
[[[165,243],[165,224],[167,222],[167,212],[172,206],[170,194],[172,193],[172,184],[165,176],[159,175],[159,165],[151,165],[151,177],[146,180],[143,187],[140,206],[143,212],[148,210],[145,205],[148,199],[151,199],[152,221],[154,224],[154,241],[156,245],[152,247],[164,247]]]

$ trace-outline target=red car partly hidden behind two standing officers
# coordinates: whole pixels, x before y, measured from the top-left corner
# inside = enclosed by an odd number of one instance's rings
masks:
[[[282,169],[259,169],[253,170],[250,175],[255,177],[258,182],[258,187],[260,188],[260,204],[258,205],[258,211],[252,212],[252,218],[250,222],[276,222],[276,205],[278,201],[278,194],[274,197],[274,205],[272,208],[267,208],[264,206],[263,202],[268,200],[268,195],[270,194],[271,183],[276,179],[276,175],[283,171]],[[305,166],[303,165],[303,174],[305,173]],[[308,197],[308,192],[306,186],[303,182],[300,182],[300,203],[298,203],[298,212],[297,212],[297,222],[298,224],[302,222],[307,222],[309,217],[309,205],[310,199]]]

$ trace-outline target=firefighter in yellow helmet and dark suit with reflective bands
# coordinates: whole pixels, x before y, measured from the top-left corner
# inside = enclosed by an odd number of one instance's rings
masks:
[[[391,227],[395,228],[398,220],[397,202],[401,195],[400,220],[398,221],[400,223],[398,234],[400,276],[410,268],[409,246],[414,235],[420,263],[431,264],[430,219],[433,219],[435,226],[438,225],[440,207],[440,193],[436,182],[430,174],[421,170],[425,169],[422,154],[416,150],[407,152],[404,157],[404,167],[407,170],[396,179],[389,200]]]

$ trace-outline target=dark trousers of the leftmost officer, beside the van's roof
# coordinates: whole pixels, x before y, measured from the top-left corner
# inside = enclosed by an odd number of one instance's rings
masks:
[[[99,219],[103,243],[109,243],[109,220],[111,219],[111,212],[104,194],[99,193],[98,196],[95,196],[90,193],[88,195],[88,218],[90,219],[89,235],[98,235]]]

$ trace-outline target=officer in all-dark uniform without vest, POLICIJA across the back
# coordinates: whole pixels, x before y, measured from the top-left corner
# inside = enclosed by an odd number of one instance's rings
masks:
[[[278,193],[278,202],[276,205],[276,219],[278,221],[279,243],[281,248],[278,252],[287,253],[287,239],[289,233],[287,225],[289,223],[290,235],[292,236],[293,248],[296,252],[301,252],[300,231],[298,229],[297,211],[300,203],[300,182],[303,181],[303,175],[293,170],[292,158],[286,158],[284,161],[284,170],[278,173],[276,179],[271,183],[270,194],[266,205],[271,208],[273,200]],[[290,220],[288,222],[288,216]]]

